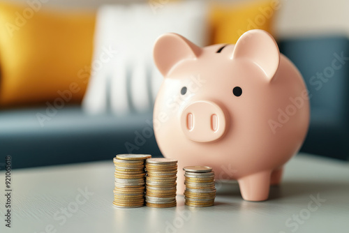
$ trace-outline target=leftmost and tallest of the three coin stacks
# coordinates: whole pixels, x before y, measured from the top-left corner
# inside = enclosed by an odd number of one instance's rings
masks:
[[[114,202],[118,207],[144,206],[144,161],[150,155],[120,154],[114,158]]]

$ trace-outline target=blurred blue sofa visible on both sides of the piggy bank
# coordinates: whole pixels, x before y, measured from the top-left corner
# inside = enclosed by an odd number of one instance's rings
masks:
[[[333,74],[328,67],[338,59],[335,54],[349,57],[348,39],[297,38],[280,41],[279,47],[299,68],[312,95],[311,126],[302,151],[347,160],[349,60],[336,61],[336,67],[342,66],[333,68]],[[322,77],[325,81],[317,77],[324,72],[331,76]],[[151,110],[124,117],[92,117],[80,106],[67,106],[42,127],[36,115],[45,111],[40,107],[0,112],[0,151],[3,159],[12,156],[14,168],[111,160],[116,153],[161,156],[154,134],[149,134]]]

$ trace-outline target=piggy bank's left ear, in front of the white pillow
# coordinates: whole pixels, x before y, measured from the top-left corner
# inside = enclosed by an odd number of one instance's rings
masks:
[[[171,68],[184,59],[196,59],[201,48],[176,33],[160,36],[154,45],[154,61],[158,70],[166,76]]]

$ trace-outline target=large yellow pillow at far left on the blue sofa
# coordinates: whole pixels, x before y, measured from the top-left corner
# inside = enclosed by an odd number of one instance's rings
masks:
[[[64,94],[65,102],[80,102],[95,16],[0,3],[0,107],[53,104]]]

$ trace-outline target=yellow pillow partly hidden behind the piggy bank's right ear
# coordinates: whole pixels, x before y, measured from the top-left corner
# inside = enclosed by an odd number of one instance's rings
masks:
[[[209,11],[211,44],[235,44],[242,33],[251,29],[272,33],[274,12],[279,8],[279,0],[213,3]]]

